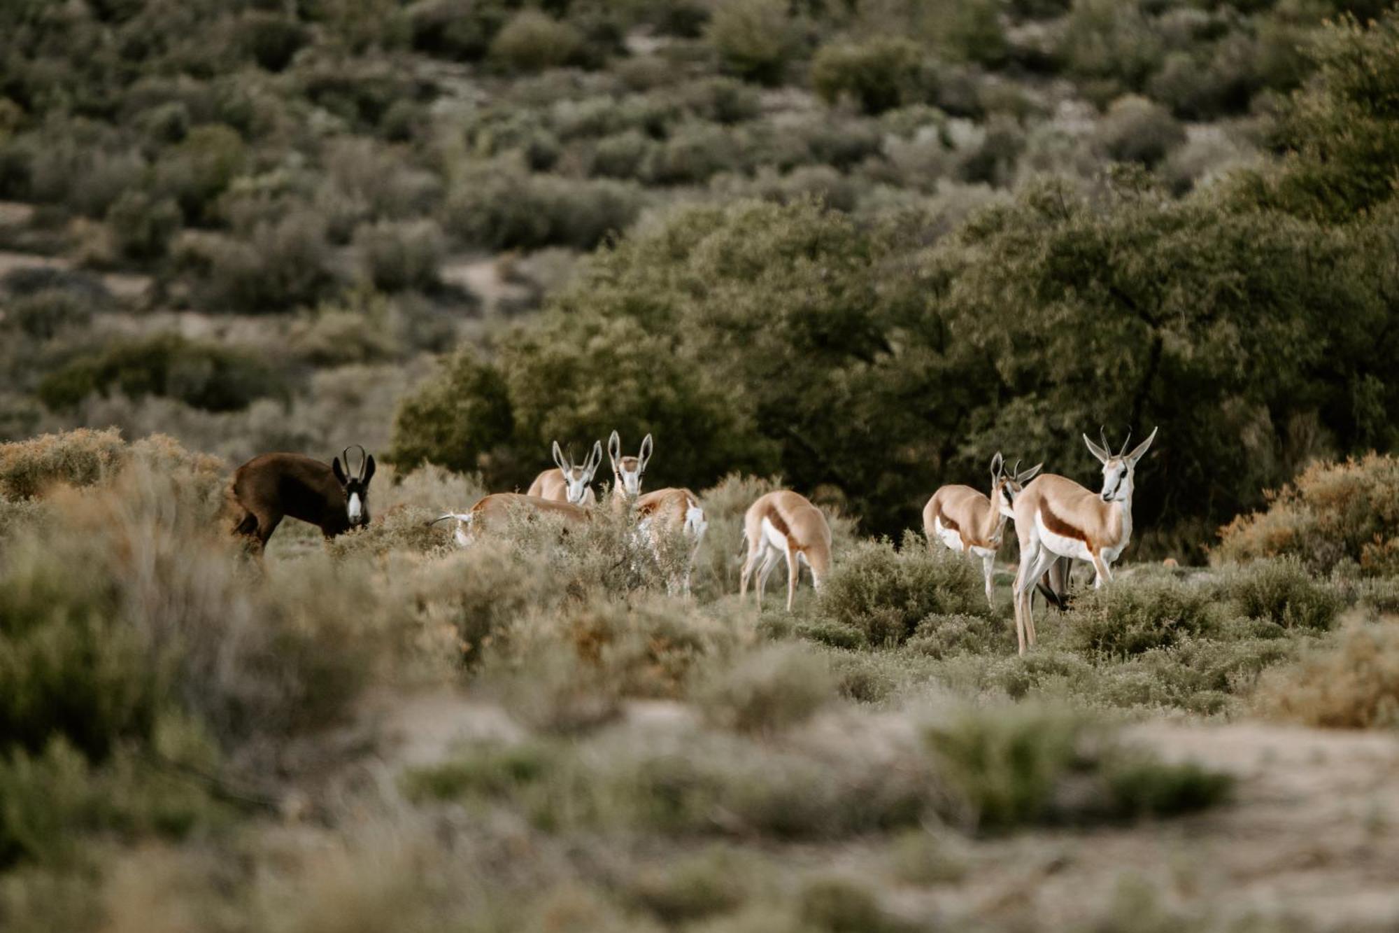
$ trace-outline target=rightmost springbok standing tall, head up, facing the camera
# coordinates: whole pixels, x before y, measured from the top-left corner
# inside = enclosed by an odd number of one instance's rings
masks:
[[[1160,430],[1160,429],[1157,429]],[[1083,443],[1102,464],[1102,490],[1090,492],[1065,476],[1045,474],[1016,496],[1016,535],[1020,538],[1020,572],[1016,574],[1016,635],[1020,653],[1035,643],[1034,608],[1030,591],[1035,581],[1059,558],[1088,560],[1097,572],[1094,587],[1112,581],[1112,562],[1132,541],[1132,485],[1137,461],[1146,455],[1156,430],[1130,454],[1128,440],[1122,450],[1109,452],[1107,434],[1102,447],[1088,436]]]

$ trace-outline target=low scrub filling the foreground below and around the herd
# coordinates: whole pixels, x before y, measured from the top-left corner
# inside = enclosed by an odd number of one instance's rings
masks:
[[[152,904],[229,932],[935,929],[895,892],[946,892],[1006,836],[1228,800],[1125,720],[1388,727],[1399,705],[1378,572],[1129,566],[1018,657],[1004,587],[988,607],[970,562],[844,520],[820,594],[741,605],[720,542],[761,481],[704,490],[679,600],[679,551],[606,509],[562,544],[520,521],[455,548],[431,504],[480,489],[436,468],[386,483],[369,528],[322,549],[284,527],[249,563],[225,475],[162,437],[0,445],[6,929]],[[1058,929],[1016,899],[939,916]]]

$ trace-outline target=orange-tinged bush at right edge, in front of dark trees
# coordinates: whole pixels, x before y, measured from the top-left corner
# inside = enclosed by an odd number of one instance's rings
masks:
[[[1314,573],[1343,559],[1382,570],[1399,539],[1399,457],[1370,454],[1343,464],[1315,464],[1270,497],[1263,511],[1220,530],[1216,560],[1291,555]]]

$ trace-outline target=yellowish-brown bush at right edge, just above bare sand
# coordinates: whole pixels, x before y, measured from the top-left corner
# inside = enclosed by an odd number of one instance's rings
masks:
[[[1254,706],[1269,719],[1307,726],[1399,726],[1399,630],[1392,623],[1343,630],[1339,643],[1265,672]]]

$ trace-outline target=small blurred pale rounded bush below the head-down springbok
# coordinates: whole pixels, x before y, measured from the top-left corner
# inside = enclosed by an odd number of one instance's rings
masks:
[[[797,644],[775,644],[711,674],[695,699],[718,726],[776,733],[809,719],[834,695],[825,658]]]

